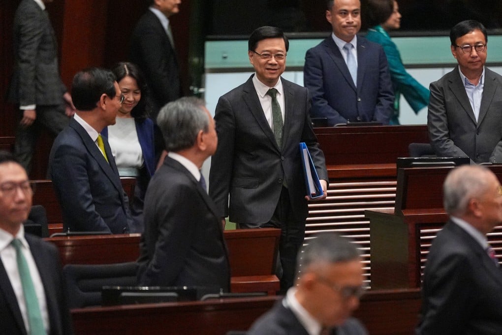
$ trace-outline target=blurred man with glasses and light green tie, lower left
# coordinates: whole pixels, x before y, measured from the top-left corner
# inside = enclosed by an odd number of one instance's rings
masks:
[[[24,231],[32,197],[25,169],[0,152],[0,332],[72,334],[58,251]]]

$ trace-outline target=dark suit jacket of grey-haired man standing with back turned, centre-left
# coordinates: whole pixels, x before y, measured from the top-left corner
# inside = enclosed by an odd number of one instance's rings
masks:
[[[194,176],[166,157],[145,197],[141,286],[207,286],[228,291],[230,266],[221,219]]]

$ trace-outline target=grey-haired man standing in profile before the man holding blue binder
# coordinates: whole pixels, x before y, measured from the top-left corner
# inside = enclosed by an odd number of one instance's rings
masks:
[[[223,228],[200,173],[216,151],[214,121],[204,101],[183,97],[160,110],[157,124],[169,153],[145,196],[138,284],[228,291]]]

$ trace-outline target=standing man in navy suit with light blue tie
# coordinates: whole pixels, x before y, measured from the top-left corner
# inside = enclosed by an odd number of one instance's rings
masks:
[[[356,36],[361,28],[359,0],[330,0],[330,37],[307,51],[305,87],[312,95],[312,118],[328,125],[349,122],[389,124],[394,91],[382,46]],[[347,50],[348,49],[348,50]]]

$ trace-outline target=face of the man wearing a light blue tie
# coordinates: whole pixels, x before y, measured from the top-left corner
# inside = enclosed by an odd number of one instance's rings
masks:
[[[350,42],[361,29],[361,3],[359,0],[335,0],[326,20],[339,39]]]

